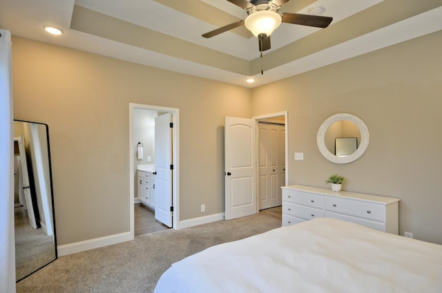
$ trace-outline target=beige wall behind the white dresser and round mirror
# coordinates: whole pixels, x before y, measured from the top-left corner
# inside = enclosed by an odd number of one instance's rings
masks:
[[[442,32],[407,41],[253,90],[253,115],[289,111],[289,184],[401,199],[400,232],[442,243]],[[325,160],[316,133],[327,117],[355,114],[370,132],[352,163]],[[294,161],[304,152],[304,161]]]

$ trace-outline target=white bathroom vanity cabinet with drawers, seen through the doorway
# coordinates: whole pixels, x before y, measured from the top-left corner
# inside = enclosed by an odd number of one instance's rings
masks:
[[[155,167],[138,167],[138,199],[144,205],[155,208]]]

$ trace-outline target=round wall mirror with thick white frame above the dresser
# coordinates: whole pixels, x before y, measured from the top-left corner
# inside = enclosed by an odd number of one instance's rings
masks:
[[[316,142],[325,159],[333,163],[350,163],[367,150],[369,132],[360,118],[339,113],[320,125]]]

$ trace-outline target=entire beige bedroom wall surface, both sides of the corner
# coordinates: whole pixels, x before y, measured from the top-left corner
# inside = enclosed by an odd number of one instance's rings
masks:
[[[400,230],[442,243],[442,32],[249,90],[15,37],[16,119],[48,123],[59,245],[129,229],[128,103],[180,108],[181,220],[224,212],[224,116],[289,112],[288,183],[400,198]],[[52,81],[53,79],[53,81]],[[349,112],[370,131],[353,163],[316,132]]]

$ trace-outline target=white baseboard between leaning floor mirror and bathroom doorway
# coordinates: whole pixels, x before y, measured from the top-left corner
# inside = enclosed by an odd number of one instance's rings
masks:
[[[107,245],[122,243],[133,240],[130,232],[124,232],[120,234],[114,234],[110,236],[104,236],[100,238],[90,239],[86,241],[79,241],[66,245],[57,246],[58,256],[64,256],[86,250],[92,250],[94,248],[104,247]]]

